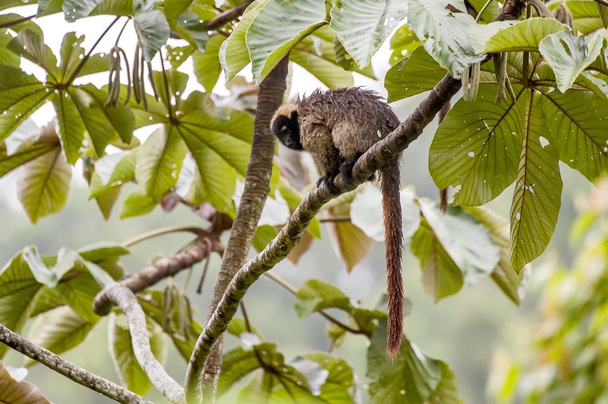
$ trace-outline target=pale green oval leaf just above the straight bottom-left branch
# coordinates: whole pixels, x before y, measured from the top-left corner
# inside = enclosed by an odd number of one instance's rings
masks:
[[[85,341],[93,327],[69,306],[59,306],[36,317],[27,333],[27,339],[55,354],[69,351]],[[24,365],[38,363],[24,360]]]

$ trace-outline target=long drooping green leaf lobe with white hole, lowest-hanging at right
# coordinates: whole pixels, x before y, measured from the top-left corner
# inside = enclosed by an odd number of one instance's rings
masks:
[[[545,250],[561,206],[558,148],[544,128],[545,117],[554,117],[544,111],[541,98],[534,95],[532,93],[528,107],[528,124],[511,204],[511,265],[517,272]]]

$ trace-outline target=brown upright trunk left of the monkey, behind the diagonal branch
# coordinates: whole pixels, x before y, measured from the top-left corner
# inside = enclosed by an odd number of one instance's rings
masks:
[[[270,132],[270,120],[283,103],[288,62],[289,56],[285,56],[260,83],[254,122],[254,139],[249,165],[247,165],[245,187],[213,288],[213,296],[207,312],[208,320],[215,312],[229,282],[247,258],[262,208],[270,192],[272,158],[275,149],[275,139]],[[188,402],[199,402],[195,397],[199,397],[201,394],[198,387],[201,378],[204,402],[213,402],[215,399],[215,389],[222,363],[222,348],[223,338],[220,338],[207,363],[193,362],[191,358],[185,382]]]

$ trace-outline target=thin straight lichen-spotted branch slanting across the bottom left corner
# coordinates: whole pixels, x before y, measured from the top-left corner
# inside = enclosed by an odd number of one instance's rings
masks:
[[[54,370],[58,374],[64,375],[73,382],[85,386],[93,391],[103,394],[112,400],[122,404],[154,404],[135,394],[128,389],[125,389],[116,383],[112,383],[103,377],[92,374],[80,366],[76,366],[67,360],[60,358],[53,352],[38,346],[21,335],[12,332],[7,327],[0,324],[0,342],[6,344],[15,351],[32,358],[35,361],[42,363],[49,369]]]

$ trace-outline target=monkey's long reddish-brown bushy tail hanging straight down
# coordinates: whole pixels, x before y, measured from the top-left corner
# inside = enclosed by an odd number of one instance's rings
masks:
[[[395,358],[403,335],[403,281],[401,278],[401,249],[403,229],[399,197],[399,157],[381,169],[382,205],[384,208],[384,239],[386,242],[386,275],[389,306],[386,351]]]

